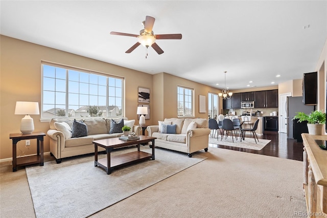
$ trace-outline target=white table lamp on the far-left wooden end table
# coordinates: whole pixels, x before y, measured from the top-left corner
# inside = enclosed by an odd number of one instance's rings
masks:
[[[34,131],[33,118],[30,115],[40,114],[39,102],[17,101],[15,115],[25,115],[21,119],[20,132],[22,134],[31,134]]]

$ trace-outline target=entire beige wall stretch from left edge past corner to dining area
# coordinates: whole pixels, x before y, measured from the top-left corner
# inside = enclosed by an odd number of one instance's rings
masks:
[[[135,119],[136,123],[138,86],[150,89],[150,120],[146,120],[148,125],[157,124],[157,120],[164,118],[177,117],[177,85],[195,90],[195,117],[207,118],[207,113],[199,113],[199,95],[207,97],[208,92],[218,94],[220,91],[167,73],[151,75],[7,36],[0,37],[0,159],[12,157],[9,134],[19,133],[20,120],[24,117],[14,115],[16,101],[41,103],[41,60],[125,77],[125,116],[130,120]],[[206,104],[207,102],[206,98]],[[40,115],[32,115],[32,118],[35,131],[48,131],[49,122],[41,122]],[[35,154],[35,144],[36,140],[31,140],[31,146],[25,147],[25,141],[18,142],[17,155]],[[45,137],[44,152],[48,151],[49,138]]]

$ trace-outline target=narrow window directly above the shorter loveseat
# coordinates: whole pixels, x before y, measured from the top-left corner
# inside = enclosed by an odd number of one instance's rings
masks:
[[[177,87],[177,116],[193,116],[193,90]]]

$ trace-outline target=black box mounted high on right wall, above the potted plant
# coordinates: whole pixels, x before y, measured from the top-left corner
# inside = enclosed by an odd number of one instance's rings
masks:
[[[317,72],[303,74],[302,94],[304,104],[317,105],[317,88]]]

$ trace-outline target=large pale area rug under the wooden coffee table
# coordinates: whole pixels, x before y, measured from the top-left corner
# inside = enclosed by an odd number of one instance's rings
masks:
[[[149,146],[141,150],[151,152]],[[26,173],[36,217],[87,217],[205,159],[156,148],[155,160],[127,165],[110,175],[94,166],[94,156],[64,159],[61,164],[46,162],[44,166],[26,167]]]

